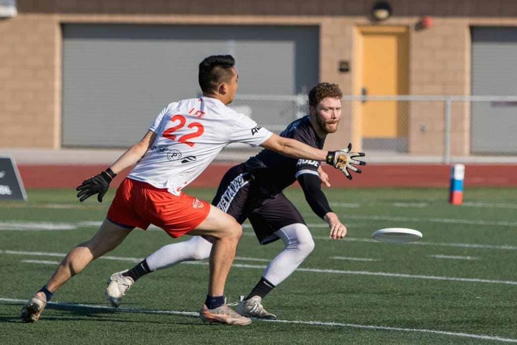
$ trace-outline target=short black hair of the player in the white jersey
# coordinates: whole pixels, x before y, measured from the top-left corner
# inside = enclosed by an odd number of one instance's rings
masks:
[[[235,66],[232,55],[211,55],[199,64],[199,86],[203,93],[215,92],[221,83],[230,83]]]

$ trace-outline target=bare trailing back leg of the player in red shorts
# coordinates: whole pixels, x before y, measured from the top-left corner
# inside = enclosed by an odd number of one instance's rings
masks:
[[[89,241],[84,242],[68,252],[52,275],[47,287],[55,292],[74,275],[80,273],[92,260],[115,249],[133,229],[119,227],[104,219],[99,231]]]

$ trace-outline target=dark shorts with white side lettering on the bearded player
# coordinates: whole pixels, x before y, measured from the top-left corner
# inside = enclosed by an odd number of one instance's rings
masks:
[[[295,223],[305,224],[296,207],[283,193],[270,196],[261,190],[252,172],[242,169],[242,164],[224,174],[217,194],[212,201],[240,224],[249,219],[261,244],[279,239],[273,232]]]

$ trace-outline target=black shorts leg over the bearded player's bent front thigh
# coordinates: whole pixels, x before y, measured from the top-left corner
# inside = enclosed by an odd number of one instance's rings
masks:
[[[267,201],[248,218],[261,244],[268,244],[279,239],[274,232],[283,227],[295,223],[305,224],[298,209],[283,193]]]

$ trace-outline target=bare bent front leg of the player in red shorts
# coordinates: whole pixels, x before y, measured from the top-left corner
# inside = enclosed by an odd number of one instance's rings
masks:
[[[189,235],[207,235],[215,238],[210,251],[210,276],[208,280],[208,295],[222,296],[224,283],[235,258],[235,251],[242,235],[242,228],[237,221],[210,205],[208,217]]]

